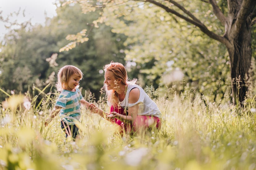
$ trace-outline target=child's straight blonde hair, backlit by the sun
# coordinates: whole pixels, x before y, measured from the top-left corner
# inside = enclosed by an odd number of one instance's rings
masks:
[[[83,78],[82,71],[75,66],[67,65],[59,69],[57,75],[58,82],[56,83],[58,91],[62,91],[64,89],[64,86],[67,86],[72,75],[79,76],[79,80]]]

